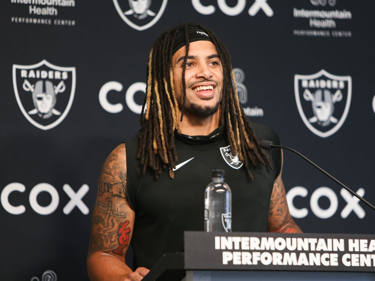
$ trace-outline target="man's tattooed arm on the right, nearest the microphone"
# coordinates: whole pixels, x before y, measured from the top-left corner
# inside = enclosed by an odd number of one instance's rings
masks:
[[[281,179],[283,153],[281,151],[281,170],[275,179],[271,194],[270,209],[268,214],[268,231],[285,233],[302,233],[289,213],[284,183]]]

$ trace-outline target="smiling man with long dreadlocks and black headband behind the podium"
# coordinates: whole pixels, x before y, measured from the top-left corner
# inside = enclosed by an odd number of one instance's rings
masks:
[[[282,152],[267,154],[257,139],[278,136],[250,125],[233,78],[228,51],[202,25],[180,24],[156,40],[142,130],[101,170],[93,227],[105,225],[90,241],[92,280],[141,280],[162,254],[181,251],[183,231],[204,228],[212,169],[225,169],[233,231],[301,232],[288,211]],[[130,239],[133,273],[124,260]]]

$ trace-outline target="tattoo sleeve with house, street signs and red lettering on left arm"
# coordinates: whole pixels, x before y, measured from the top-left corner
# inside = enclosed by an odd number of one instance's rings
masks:
[[[96,251],[123,256],[123,250],[129,245],[133,223],[130,223],[126,213],[130,207],[126,194],[126,158],[122,153],[124,151],[121,149],[115,149],[101,169],[89,256]]]

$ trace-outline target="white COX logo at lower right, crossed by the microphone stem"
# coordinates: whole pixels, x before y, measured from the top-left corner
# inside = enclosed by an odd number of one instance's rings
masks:
[[[352,196],[347,190],[344,188],[341,189],[340,194],[342,198],[347,202],[347,205],[344,209],[341,211],[341,217],[347,218],[348,215],[353,211],[359,218],[364,218],[366,213],[362,209],[362,207],[359,205],[359,199],[355,196]],[[359,188],[357,190],[357,194],[361,197],[365,195],[365,190],[363,188]],[[294,197],[301,196],[306,197],[308,195],[308,190],[305,187],[302,186],[296,186],[293,187],[291,190],[287,193],[287,202],[290,214],[292,217],[295,218],[304,218],[309,214],[309,211],[307,208],[297,209],[293,205],[293,199]],[[322,209],[319,204],[318,200],[321,197],[327,197],[330,202],[330,206],[328,209]],[[337,209],[338,209],[338,197],[336,193],[329,187],[320,187],[317,190],[315,190],[310,197],[310,207],[311,211],[316,215],[318,218],[330,218],[332,217]]]

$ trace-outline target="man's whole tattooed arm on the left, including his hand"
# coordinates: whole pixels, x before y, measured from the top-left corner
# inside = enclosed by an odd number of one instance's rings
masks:
[[[134,217],[126,197],[126,150],[121,144],[107,157],[99,175],[87,256],[90,280],[140,280],[147,274],[145,268],[132,273],[125,262]]]

